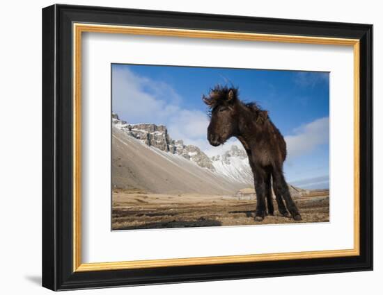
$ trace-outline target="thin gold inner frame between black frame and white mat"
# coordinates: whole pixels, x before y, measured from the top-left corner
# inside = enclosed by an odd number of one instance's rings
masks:
[[[176,28],[148,28],[136,26],[111,26],[102,24],[73,24],[73,105],[75,124],[73,128],[73,271],[105,271],[150,267],[173,267],[198,264],[221,264],[236,262],[260,262],[304,258],[331,258],[359,255],[359,40],[296,35],[272,35],[258,33],[233,33],[220,31],[196,31]],[[81,34],[117,33],[132,35],[157,35],[166,37],[195,37],[249,42],[288,42],[300,44],[343,45],[354,50],[354,248],[345,250],[307,251],[295,253],[272,253],[254,255],[228,255],[203,258],[178,258],[162,260],[138,260],[122,262],[81,263]]]

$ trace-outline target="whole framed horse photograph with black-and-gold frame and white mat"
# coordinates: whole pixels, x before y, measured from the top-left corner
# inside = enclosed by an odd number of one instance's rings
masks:
[[[373,26],[42,10],[42,285],[373,269]]]

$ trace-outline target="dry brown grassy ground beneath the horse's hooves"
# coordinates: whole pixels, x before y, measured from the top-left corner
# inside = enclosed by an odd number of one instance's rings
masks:
[[[254,221],[256,200],[203,194],[148,194],[116,189],[112,197],[112,229],[244,226],[329,221],[329,194],[296,197],[302,221],[282,217],[274,201],[274,216]]]

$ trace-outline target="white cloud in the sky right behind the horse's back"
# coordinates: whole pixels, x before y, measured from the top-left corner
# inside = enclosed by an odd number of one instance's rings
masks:
[[[329,142],[329,117],[317,119],[294,130],[295,135],[285,136],[288,160],[313,151]]]

